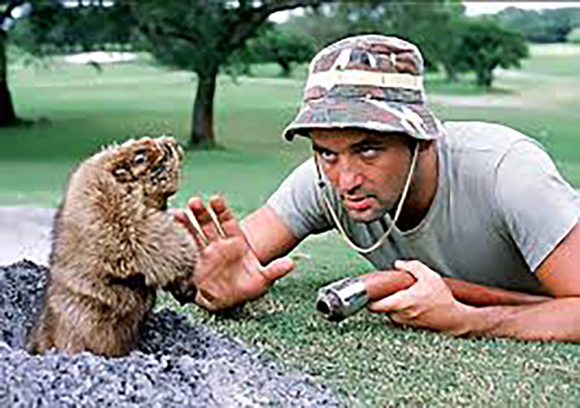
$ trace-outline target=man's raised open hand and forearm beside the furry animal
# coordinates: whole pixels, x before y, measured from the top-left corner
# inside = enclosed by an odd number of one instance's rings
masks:
[[[188,207],[203,234],[194,228],[186,212],[174,212],[198,246],[191,282],[197,289],[194,302],[208,310],[231,308],[260,297],[293,269],[291,260],[278,256],[290,251],[299,240],[272,209],[258,209],[241,227],[220,196],[212,197],[209,206],[221,231],[199,197],[190,199]]]

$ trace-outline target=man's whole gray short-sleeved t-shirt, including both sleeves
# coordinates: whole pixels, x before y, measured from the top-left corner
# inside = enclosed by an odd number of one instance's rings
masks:
[[[483,122],[447,122],[436,141],[438,188],[414,229],[396,226],[375,251],[364,255],[377,269],[416,259],[443,276],[513,290],[542,293],[533,271],[570,232],[580,196],[560,176],[533,139]],[[346,216],[335,191],[317,183],[313,159],[296,168],[270,197],[297,238],[334,227],[326,194],[351,240],[370,247],[391,224],[357,223]]]

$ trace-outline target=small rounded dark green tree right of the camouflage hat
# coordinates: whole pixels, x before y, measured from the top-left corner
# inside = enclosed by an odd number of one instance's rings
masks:
[[[462,71],[475,71],[482,87],[491,87],[495,68],[519,68],[520,60],[528,56],[524,38],[491,19],[465,20],[460,33],[458,47],[450,49],[454,64]]]

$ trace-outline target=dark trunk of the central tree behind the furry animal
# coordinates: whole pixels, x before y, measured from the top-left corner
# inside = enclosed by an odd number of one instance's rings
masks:
[[[217,69],[197,73],[197,93],[193,104],[190,145],[194,148],[213,148],[214,94],[216,92]]]

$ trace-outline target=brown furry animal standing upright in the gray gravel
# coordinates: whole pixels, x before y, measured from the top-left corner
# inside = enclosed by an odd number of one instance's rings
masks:
[[[166,212],[180,163],[172,138],[144,137],[103,150],[71,175],[31,352],[121,356],[135,348],[155,290],[179,287],[194,269],[195,248]]]

